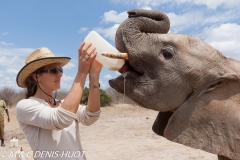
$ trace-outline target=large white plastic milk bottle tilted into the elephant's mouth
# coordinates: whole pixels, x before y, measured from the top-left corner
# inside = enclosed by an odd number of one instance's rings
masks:
[[[118,71],[122,68],[125,61],[123,59],[112,59],[102,56],[102,52],[120,53],[115,47],[108,43],[97,32],[91,31],[85,38],[85,42],[92,43],[96,47],[97,57],[96,60],[109,70]]]

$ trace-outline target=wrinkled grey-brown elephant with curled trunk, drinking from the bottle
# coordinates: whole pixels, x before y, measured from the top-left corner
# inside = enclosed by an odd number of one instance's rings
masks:
[[[198,37],[167,34],[168,17],[132,10],[116,32],[116,47],[133,70],[125,94],[159,111],[153,131],[168,140],[240,159],[240,63]],[[110,80],[124,92],[123,77]],[[227,158],[228,157],[228,158]]]

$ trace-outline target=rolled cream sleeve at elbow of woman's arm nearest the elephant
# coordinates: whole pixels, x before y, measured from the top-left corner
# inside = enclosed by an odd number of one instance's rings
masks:
[[[90,112],[86,106],[80,105],[77,111],[77,120],[85,126],[92,125],[100,117],[101,110],[97,112]]]

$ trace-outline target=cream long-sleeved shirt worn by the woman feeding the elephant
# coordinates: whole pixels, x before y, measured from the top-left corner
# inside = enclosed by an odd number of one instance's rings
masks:
[[[99,119],[100,112],[89,112],[80,105],[74,114],[61,106],[52,108],[36,97],[23,99],[16,106],[18,123],[35,159],[44,160],[85,160],[78,123],[91,125]]]

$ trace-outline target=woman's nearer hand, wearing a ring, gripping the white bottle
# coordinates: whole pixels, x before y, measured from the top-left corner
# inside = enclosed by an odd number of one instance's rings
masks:
[[[96,58],[97,52],[91,43],[82,42],[78,48],[78,73],[88,74],[92,61]],[[89,57],[89,58],[88,58]]]

